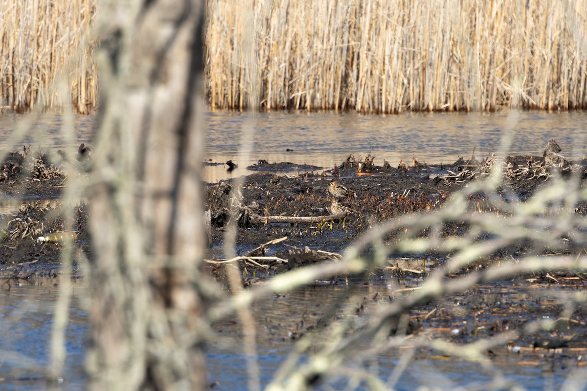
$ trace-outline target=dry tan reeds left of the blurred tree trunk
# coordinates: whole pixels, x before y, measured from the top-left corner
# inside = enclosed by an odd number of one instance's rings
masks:
[[[97,104],[97,72],[88,41],[95,0],[0,2],[0,106],[18,112]],[[59,94],[66,83],[69,96]],[[39,106],[39,107],[36,107]]]

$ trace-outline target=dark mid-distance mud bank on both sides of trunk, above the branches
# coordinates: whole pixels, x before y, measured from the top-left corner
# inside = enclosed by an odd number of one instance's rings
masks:
[[[89,152],[90,148],[80,145],[75,156],[74,175],[87,175]],[[251,166],[249,175],[204,183],[205,209],[210,211],[208,256],[212,261],[222,257],[224,234],[232,214],[238,220],[237,255],[288,260],[287,263],[269,261],[263,263],[263,267],[245,261],[241,264],[245,277],[270,276],[305,264],[335,259],[336,254],[373,226],[406,213],[443,208],[451,193],[473,181],[483,181],[494,165],[501,164],[504,174],[497,193],[502,199],[514,200],[512,202],[529,199],[553,176],[570,178],[576,173],[583,179],[587,176],[586,161],[566,161],[559,152],[560,148],[552,140],[542,157],[515,156],[502,161],[492,155],[475,158],[473,152],[471,157],[460,158],[453,164],[422,164],[414,159],[408,164],[400,161],[399,165],[392,166],[370,155],[363,158],[349,154],[332,169],[306,165],[306,171],[289,162],[259,161]],[[64,159],[61,151],[49,154],[31,152],[29,148],[11,152],[0,169],[0,192],[6,197],[23,199],[59,198],[68,178],[68,173],[62,169]],[[284,169],[296,171],[288,175],[275,174]],[[233,197],[234,183],[239,184],[239,189]],[[349,189],[352,195],[333,196],[329,191],[332,183]],[[333,200],[343,209],[342,214],[336,215]],[[468,202],[471,210],[490,212],[493,208],[491,200],[483,193],[470,195]],[[585,209],[585,203],[576,206],[579,213]],[[69,206],[67,212],[74,218],[69,225],[64,220],[66,213],[60,203],[53,207],[46,202],[23,203],[11,215],[0,216],[0,227],[5,227],[4,239],[0,242],[1,264],[34,262],[40,267],[58,263],[61,243],[38,243],[37,239],[45,233],[68,229],[77,233],[78,253],[91,258],[86,231],[87,205]],[[303,219],[308,222],[299,222]],[[466,227],[447,227],[450,229],[458,231]],[[248,254],[264,243],[284,237],[287,239]],[[523,247],[521,244],[495,255],[504,257],[508,251],[519,254],[524,251]],[[396,256],[439,262],[446,254]],[[210,265],[217,268],[214,263]]]

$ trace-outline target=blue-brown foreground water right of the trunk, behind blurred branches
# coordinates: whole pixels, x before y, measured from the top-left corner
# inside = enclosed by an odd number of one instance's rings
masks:
[[[392,282],[389,284],[314,285],[255,302],[252,314],[256,322],[254,329],[257,334],[257,355],[262,386],[268,385],[285,361],[288,358],[291,359],[290,355],[296,342],[307,328],[318,328],[321,325],[328,327],[328,324],[341,318],[350,319],[354,327],[360,327],[366,320],[365,314],[372,313],[381,305],[385,305],[386,299],[390,296],[397,298],[400,295],[410,294],[406,287],[412,286],[411,284],[394,283],[394,278],[390,281]],[[497,291],[502,301],[507,299],[525,302],[532,299],[531,295],[519,288],[505,286],[481,287],[479,292],[475,292],[475,298],[484,301],[483,294],[478,295],[484,291],[490,294],[492,291]],[[541,292],[548,294],[544,289]],[[376,297],[381,300],[374,300]],[[335,305],[337,301],[343,304],[335,306],[336,309],[332,311],[332,305]],[[452,299],[448,299],[444,304],[455,308],[462,306],[453,302]],[[438,305],[443,306],[443,304]],[[357,312],[357,308],[362,310]],[[453,315],[446,320],[451,321],[453,318],[458,317]],[[455,320],[455,322],[459,321]],[[462,320],[460,322],[463,323]],[[248,380],[247,362],[252,358],[243,353],[243,329],[236,318],[229,322],[219,322],[213,325],[213,329],[215,335],[207,357],[209,382],[218,382],[215,386],[218,390],[244,389]],[[431,334],[426,329],[422,333],[426,344],[438,338],[438,334]],[[450,332],[447,334],[450,338]],[[326,338],[328,335],[327,333]],[[312,346],[317,347],[310,348],[309,351],[317,351],[321,342],[313,341]],[[430,355],[430,349],[416,349],[414,356],[408,359],[406,368],[393,375],[405,355],[410,354],[410,339],[406,340],[406,345],[406,348],[384,349],[376,355],[359,349],[352,360],[343,362],[345,368],[342,372],[338,375],[333,373],[333,379],[326,380],[328,383],[319,385],[318,389],[347,389],[345,388],[347,382],[343,379],[353,368],[367,370],[377,375],[382,382],[397,375],[397,378],[393,380],[394,383],[387,384],[390,389],[397,390],[413,390],[419,387],[442,390],[453,390],[459,387],[508,389],[510,387],[505,386],[507,382],[511,382],[510,385],[523,385],[525,389],[543,389],[545,384],[551,384],[552,389],[558,389],[569,376],[568,368],[576,366],[574,358],[564,363],[555,359],[540,362],[540,353],[532,352],[531,348],[524,348],[524,353],[517,354],[509,352],[505,346],[497,346],[492,349],[495,354],[491,359],[489,367],[491,370],[487,370],[488,368],[483,368],[480,363],[446,356],[433,357]],[[307,359],[307,355],[301,355],[298,361],[305,362]],[[523,363],[524,361],[527,363]],[[545,366],[549,366],[546,372],[543,370]],[[497,383],[492,383],[496,381]],[[363,386],[357,389],[368,388]]]

